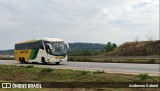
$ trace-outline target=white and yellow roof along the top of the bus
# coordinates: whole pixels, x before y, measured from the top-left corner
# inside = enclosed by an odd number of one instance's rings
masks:
[[[19,43],[16,43],[16,44],[30,43],[30,42],[40,41],[40,40],[42,40],[42,41],[51,41],[51,42],[62,42],[63,41],[62,39],[59,39],[59,38],[42,38],[42,39],[27,40],[27,41],[19,42]]]

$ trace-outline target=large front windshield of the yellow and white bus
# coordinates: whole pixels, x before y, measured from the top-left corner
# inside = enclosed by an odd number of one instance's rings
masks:
[[[48,42],[51,55],[66,55],[67,46],[64,42]]]

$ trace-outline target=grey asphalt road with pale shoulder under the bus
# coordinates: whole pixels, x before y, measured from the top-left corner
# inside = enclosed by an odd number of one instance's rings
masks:
[[[153,76],[160,76],[160,64],[129,64],[129,63],[98,63],[98,62],[61,62],[55,64],[20,64],[14,60],[0,60],[0,64],[27,66],[41,68],[56,68],[56,69],[72,69],[72,70],[88,70],[88,71],[105,71],[108,73],[123,73],[123,74],[140,74],[148,73]]]

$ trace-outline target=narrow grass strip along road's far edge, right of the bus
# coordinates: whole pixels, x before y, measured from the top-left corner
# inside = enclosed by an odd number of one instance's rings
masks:
[[[69,61],[105,62],[105,63],[143,63],[160,64],[160,58],[148,57],[116,57],[116,56],[69,56]]]

